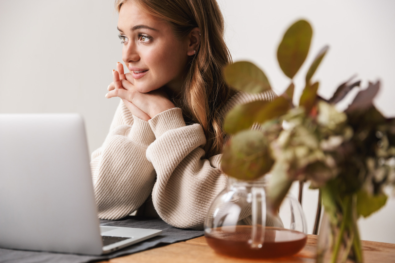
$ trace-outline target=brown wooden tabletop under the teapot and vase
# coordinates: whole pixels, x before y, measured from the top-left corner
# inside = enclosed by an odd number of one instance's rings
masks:
[[[248,262],[315,262],[317,236],[308,235],[305,248],[293,257],[280,259],[239,259],[216,254],[205,237],[197,237],[143,252],[117,257],[103,263],[248,263]],[[395,262],[395,244],[362,241],[366,263]]]

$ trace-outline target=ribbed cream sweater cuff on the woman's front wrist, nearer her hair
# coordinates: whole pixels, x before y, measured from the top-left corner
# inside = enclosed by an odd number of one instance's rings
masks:
[[[166,131],[186,126],[180,108],[163,111],[148,120],[148,122],[156,138],[160,137]]]

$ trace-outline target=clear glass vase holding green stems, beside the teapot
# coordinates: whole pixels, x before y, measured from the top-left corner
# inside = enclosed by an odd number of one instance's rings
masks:
[[[356,195],[338,200],[332,213],[324,212],[317,243],[317,263],[363,262],[357,225]]]

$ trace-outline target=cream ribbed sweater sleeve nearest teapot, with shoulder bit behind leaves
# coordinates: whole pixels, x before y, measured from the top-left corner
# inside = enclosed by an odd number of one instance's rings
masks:
[[[273,92],[239,92],[229,99],[224,114],[239,103],[273,100],[275,96]],[[147,159],[157,175],[152,191],[156,212],[175,227],[203,228],[211,203],[227,184],[220,168],[222,154],[204,158],[203,128],[199,124],[185,126],[181,109],[164,111],[149,124],[156,137],[147,148]]]

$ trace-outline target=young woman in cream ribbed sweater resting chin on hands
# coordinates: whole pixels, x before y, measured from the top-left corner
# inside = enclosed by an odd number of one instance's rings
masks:
[[[117,0],[122,60],[107,98],[121,98],[103,145],[92,153],[99,217],[138,209],[180,228],[202,228],[226,187],[223,118],[238,103],[274,93],[235,93],[215,0]],[[153,206],[152,206],[153,204]]]

